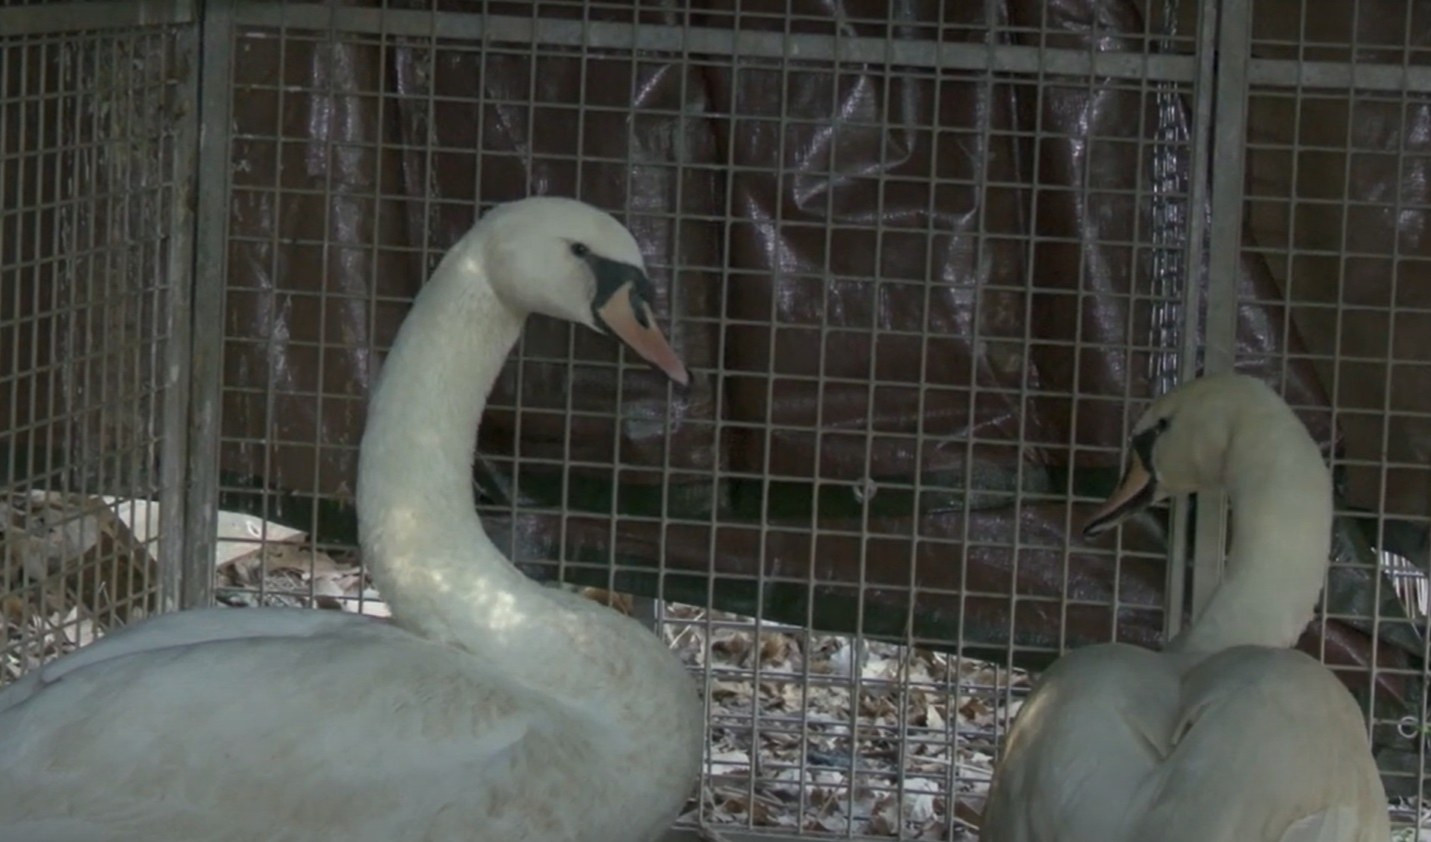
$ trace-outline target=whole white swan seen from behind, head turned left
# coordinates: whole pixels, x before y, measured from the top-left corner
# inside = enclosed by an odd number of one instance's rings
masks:
[[[1162,495],[1224,487],[1226,573],[1165,652],[1090,646],[1043,674],[1009,732],[980,839],[1387,842],[1359,707],[1288,649],[1331,550],[1315,442],[1261,381],[1216,375],[1155,401],[1132,451],[1085,534]]]

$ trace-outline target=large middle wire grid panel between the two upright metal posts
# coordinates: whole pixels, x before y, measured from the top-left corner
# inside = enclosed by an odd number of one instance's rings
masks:
[[[268,533],[218,599],[385,613],[376,362],[479,210],[574,195],[695,384],[532,319],[489,533],[701,676],[707,822],[964,835],[1025,670],[1165,629],[1158,518],[1069,536],[1178,371],[1195,64],[1136,14],[896,6],[238,6],[219,503]]]

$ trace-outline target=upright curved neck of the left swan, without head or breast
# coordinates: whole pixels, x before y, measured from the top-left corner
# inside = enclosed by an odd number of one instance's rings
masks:
[[[358,518],[396,623],[507,657],[518,642],[501,630],[550,609],[474,508],[477,427],[524,322],[487,282],[479,238],[444,258],[388,355],[359,454]]]

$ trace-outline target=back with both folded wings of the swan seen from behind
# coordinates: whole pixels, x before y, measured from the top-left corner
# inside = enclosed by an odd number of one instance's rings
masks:
[[[1059,659],[1019,712],[980,839],[1390,838],[1361,712],[1317,660],[1241,646],[1178,663],[1123,644]]]

